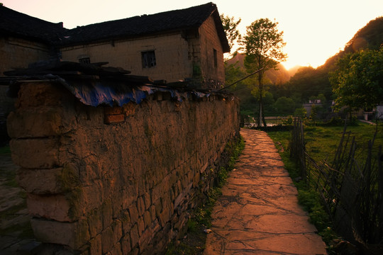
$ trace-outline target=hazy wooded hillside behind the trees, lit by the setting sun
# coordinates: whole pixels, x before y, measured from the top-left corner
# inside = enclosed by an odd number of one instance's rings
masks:
[[[324,38],[323,40],[328,40]],[[282,64],[279,70],[269,70],[266,72],[271,84],[265,86],[267,94],[264,98],[265,114],[278,115],[274,102],[285,96],[291,98],[296,103],[296,108],[301,107],[301,103],[309,101],[311,96],[323,94],[328,101],[333,99],[333,92],[329,72],[336,68],[336,62],[348,52],[355,52],[361,48],[378,49],[383,43],[383,17],[376,18],[355,33],[354,37],[345,45],[345,49],[338,54],[330,57],[321,67],[294,67],[287,71]],[[315,50],[315,49],[313,49]],[[236,55],[228,60],[228,64],[235,64],[244,68],[244,55]],[[290,75],[289,75],[290,72]],[[293,75],[293,76],[292,76]],[[291,77],[291,78],[290,78]],[[236,78],[236,77],[235,77]],[[240,77],[238,77],[239,79]],[[251,94],[251,89],[243,83],[231,87],[231,91],[240,98],[240,112],[243,115],[257,115],[257,99]],[[270,96],[271,94],[271,96]]]

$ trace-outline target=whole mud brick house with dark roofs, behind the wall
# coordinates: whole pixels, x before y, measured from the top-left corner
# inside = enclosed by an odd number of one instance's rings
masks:
[[[204,88],[224,82],[223,53],[229,52],[217,6],[63,28],[0,7],[0,72],[40,60],[109,62],[132,74],[168,82],[194,81]],[[6,61],[4,61],[6,60]]]

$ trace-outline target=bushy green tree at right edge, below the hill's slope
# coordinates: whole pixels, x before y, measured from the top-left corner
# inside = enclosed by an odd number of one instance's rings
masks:
[[[335,106],[370,110],[383,101],[383,47],[345,55],[330,80]]]

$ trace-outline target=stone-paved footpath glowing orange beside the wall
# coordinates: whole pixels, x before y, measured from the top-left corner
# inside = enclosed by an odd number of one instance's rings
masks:
[[[240,134],[245,149],[213,208],[204,255],[326,254],[270,137]]]

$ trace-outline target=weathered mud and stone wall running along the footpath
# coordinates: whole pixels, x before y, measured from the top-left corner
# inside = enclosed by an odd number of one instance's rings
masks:
[[[91,107],[58,84],[21,84],[8,130],[35,237],[47,254],[160,253],[203,203],[238,116],[213,94]]]

